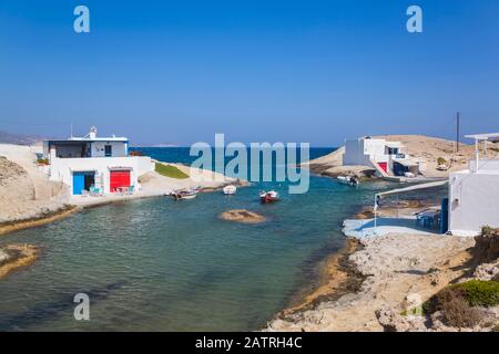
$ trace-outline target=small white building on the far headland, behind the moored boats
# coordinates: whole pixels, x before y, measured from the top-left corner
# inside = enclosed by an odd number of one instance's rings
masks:
[[[399,142],[387,142],[371,137],[348,139],[345,142],[344,166],[373,166],[387,175],[405,176],[419,174],[419,164],[403,153]]]

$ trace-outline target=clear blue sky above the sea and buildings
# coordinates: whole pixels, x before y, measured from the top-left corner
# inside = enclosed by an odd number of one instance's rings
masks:
[[[73,31],[90,9],[91,33]],[[424,33],[406,9],[424,10]],[[499,131],[497,0],[0,2],[0,129],[136,144]]]

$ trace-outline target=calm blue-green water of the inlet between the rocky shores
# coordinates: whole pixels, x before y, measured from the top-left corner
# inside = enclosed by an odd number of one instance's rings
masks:
[[[312,157],[327,152],[313,150]],[[192,160],[179,148],[146,153]],[[343,219],[387,186],[350,188],[312,177],[308,194],[287,195],[283,184],[255,184],[234,197],[135,200],[11,233],[0,243],[29,242],[42,253],[0,282],[0,330],[256,330],[310,284],[320,258],[343,246]],[[261,205],[257,192],[267,187],[283,200]],[[263,214],[268,222],[218,220],[235,208]],[[73,319],[78,292],[90,295],[89,322]]]

